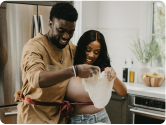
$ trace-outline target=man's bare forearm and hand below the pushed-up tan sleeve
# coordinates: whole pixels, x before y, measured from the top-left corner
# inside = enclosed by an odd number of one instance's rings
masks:
[[[92,76],[92,71],[99,70],[98,67],[82,64],[77,65],[78,76],[81,78],[88,78]],[[39,74],[39,87],[46,88],[63,82],[71,77],[75,76],[72,67],[62,69],[59,71],[41,71]]]

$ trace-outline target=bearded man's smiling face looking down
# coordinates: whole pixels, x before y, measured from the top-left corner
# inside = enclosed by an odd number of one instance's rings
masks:
[[[50,36],[51,43],[59,49],[63,49],[73,37],[75,22],[53,18],[53,21],[50,21],[50,28],[52,31]]]

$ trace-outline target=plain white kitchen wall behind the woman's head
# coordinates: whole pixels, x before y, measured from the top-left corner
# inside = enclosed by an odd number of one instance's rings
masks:
[[[111,65],[122,80],[125,58],[139,62],[129,49],[136,37],[149,42],[149,0],[82,0],[82,33],[97,29],[104,34]],[[149,34],[148,34],[149,33]]]

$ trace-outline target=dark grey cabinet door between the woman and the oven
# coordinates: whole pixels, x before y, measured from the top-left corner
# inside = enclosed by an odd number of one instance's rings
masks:
[[[112,97],[106,106],[111,124],[127,124],[128,95],[120,96],[112,92]]]

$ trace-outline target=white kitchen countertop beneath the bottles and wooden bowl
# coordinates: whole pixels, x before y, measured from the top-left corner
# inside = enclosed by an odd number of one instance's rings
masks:
[[[148,87],[139,83],[125,83],[128,94],[135,94],[140,96],[148,96],[153,98],[160,98],[166,100],[166,85],[160,87]]]

